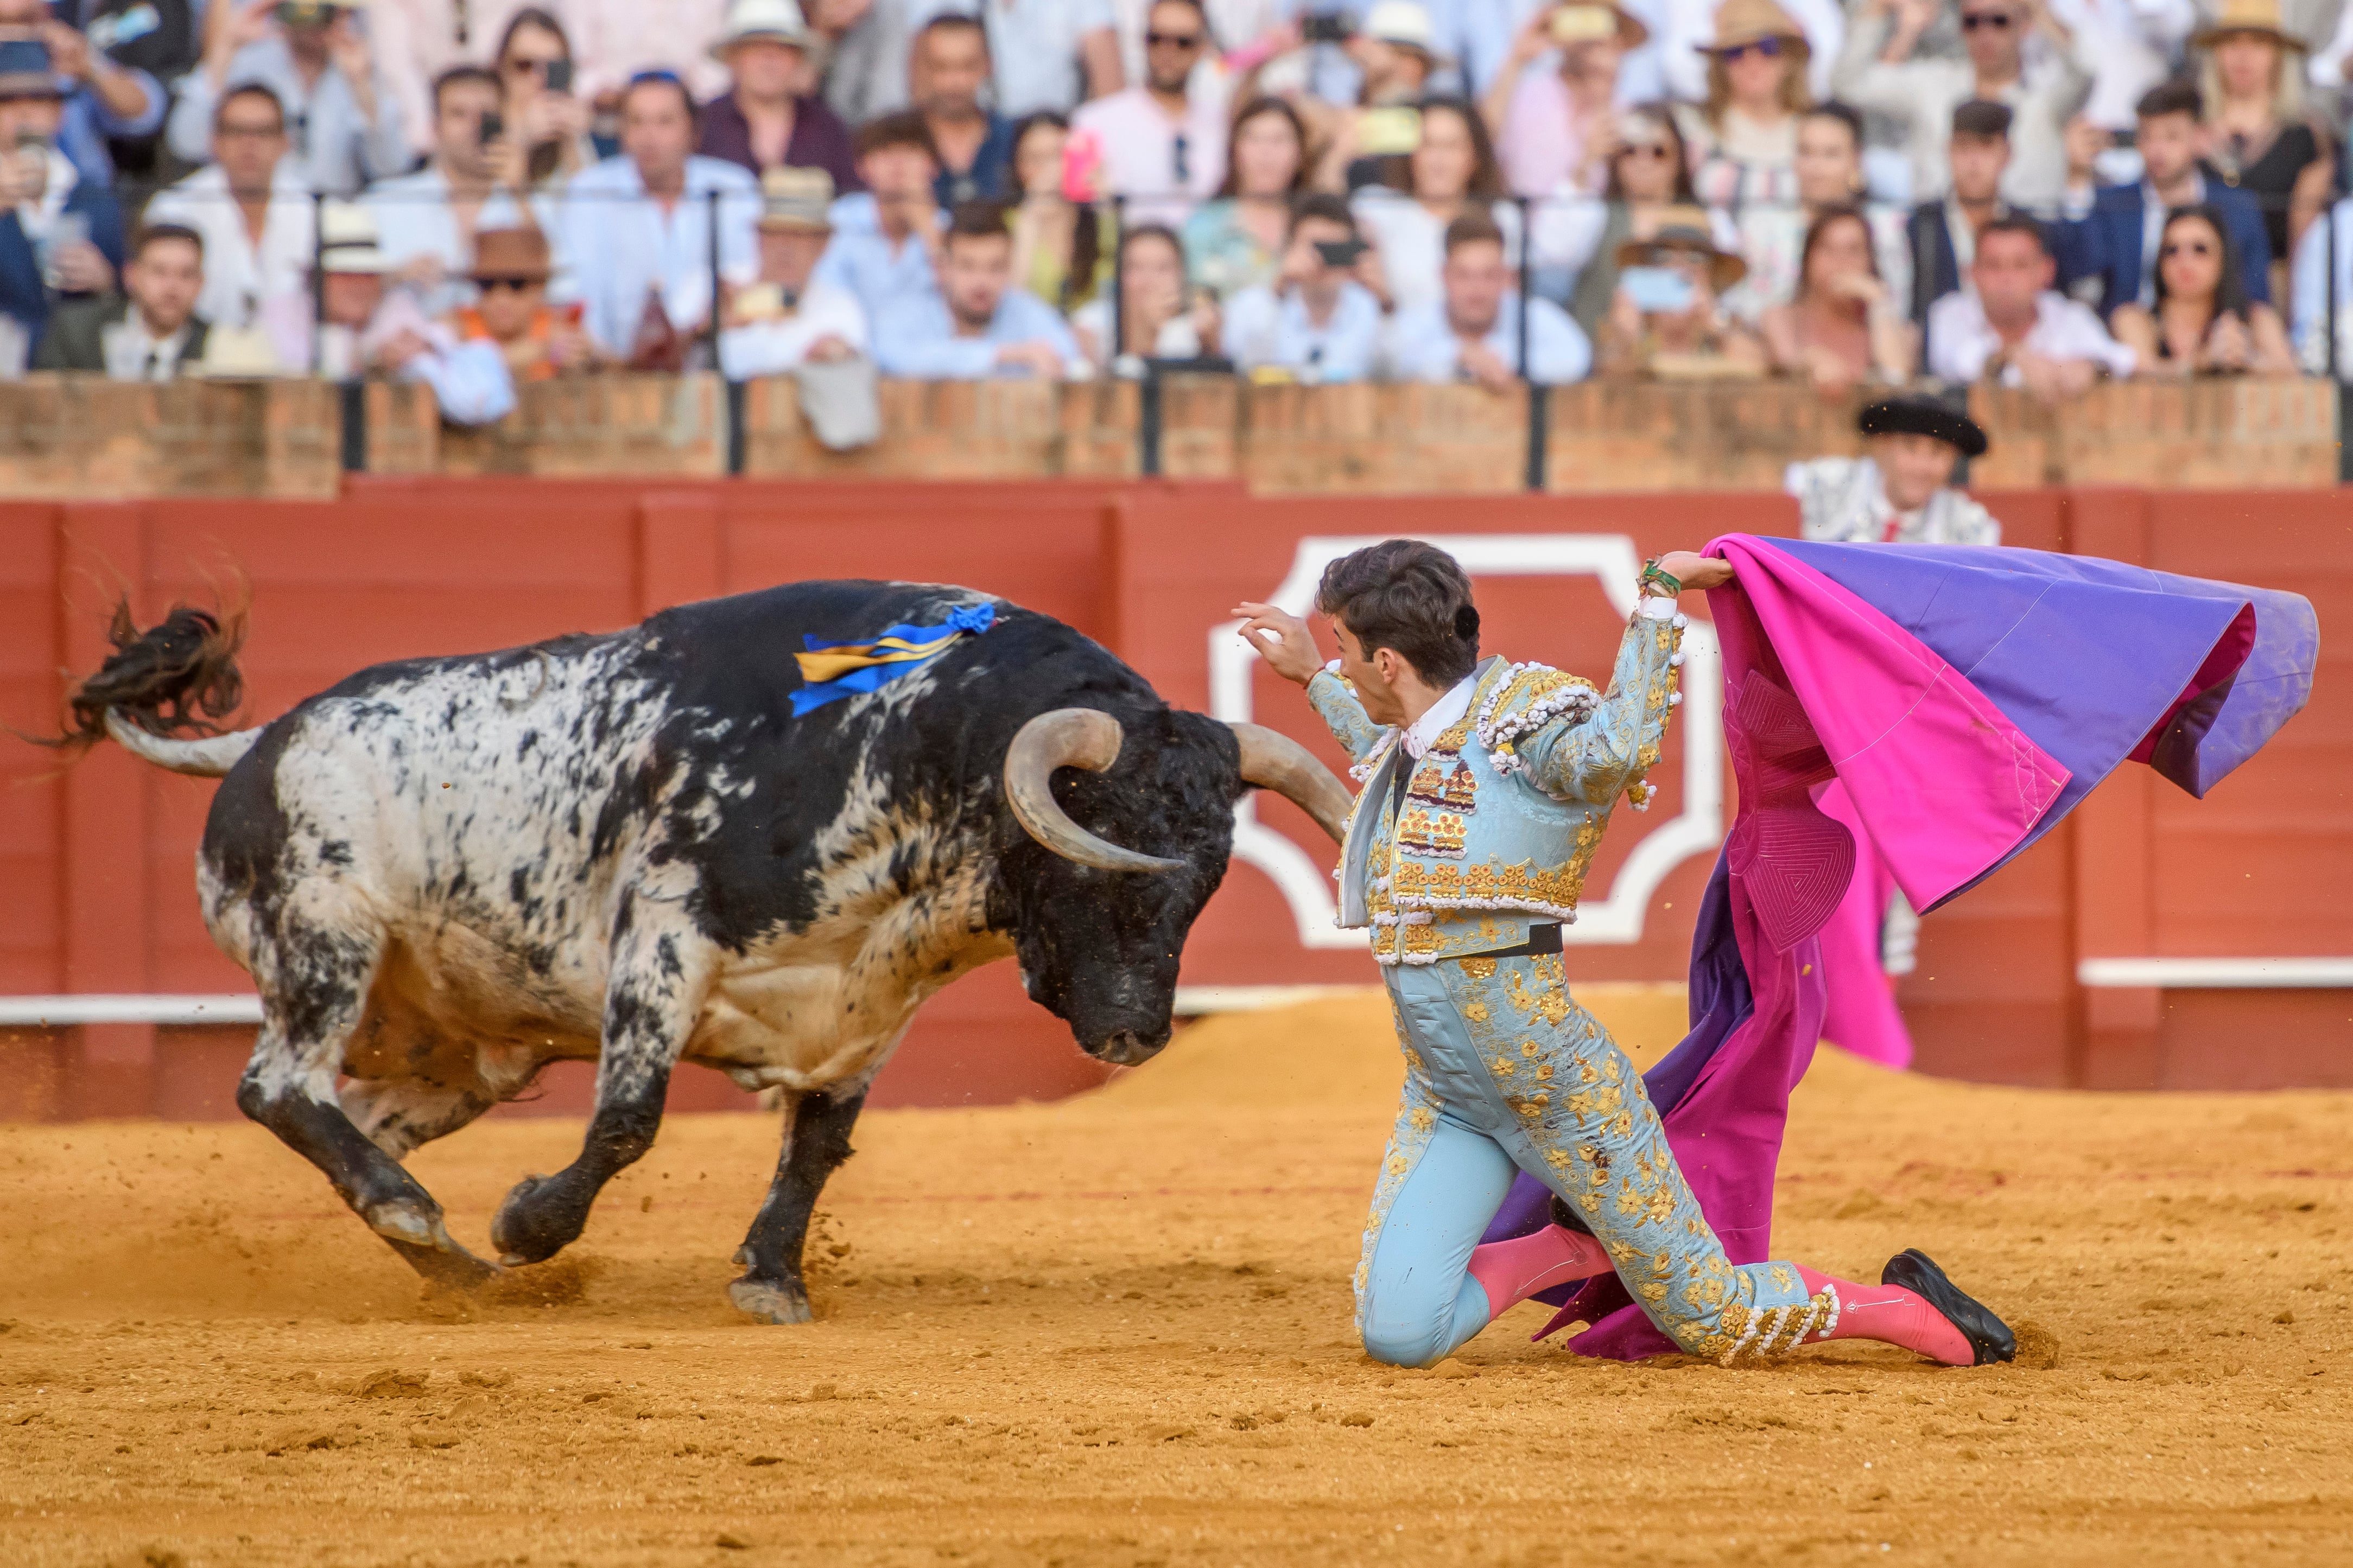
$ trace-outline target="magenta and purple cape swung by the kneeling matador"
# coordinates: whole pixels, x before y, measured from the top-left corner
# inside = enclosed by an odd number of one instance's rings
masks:
[[[1857,802],[1861,818],[1878,818],[1873,842],[1899,877],[1934,860],[1927,875],[1948,882],[1953,844],[1927,842],[1920,818],[1932,813],[1904,813],[1906,802],[1889,799],[1904,766],[1889,769],[1882,750],[1937,766],[1937,726],[1915,726],[1929,731],[1927,748],[1906,752],[1901,736],[1911,708],[1899,703],[1904,717],[1887,736],[1873,731],[1861,743],[1857,715],[1847,710],[1889,712],[1889,696],[1946,703],[1951,712],[1993,710],[2019,757],[2059,788],[2035,809],[2042,785],[2033,785],[2033,816],[2002,835],[2007,842],[1988,839],[1979,813],[1960,851],[1969,875],[1941,891],[1951,898],[2033,844],[2146,741],[2153,741],[2141,752],[2146,762],[2191,795],[2205,795],[2304,708],[2318,661],[2318,621],[2297,595],[2040,550],[1727,536],[1708,552],[1732,559],[1751,590],[1711,595],[1725,644],[1725,726],[1741,820],[1718,856],[1692,936],[1692,1032],[1642,1081],[1725,1253],[1732,1262],[1760,1262],[1769,1255],[1788,1091],[1814,1056],[1824,1011],[1814,938],[1826,917],[1814,914],[1821,893],[1800,893],[1807,910],[1798,917],[1786,907],[1791,886],[1809,875],[1819,882],[1817,863],[1835,860],[1835,839],[1824,825],[1847,837],[1791,795],[1791,780],[1817,776],[1802,773],[1814,759],[1802,741],[1819,738],[1821,755],[1833,759],[1871,752],[1873,766],[1852,773],[1840,766],[1838,773],[1864,795]],[[1826,682],[1833,658],[1845,661],[1835,668],[1835,689]],[[1798,729],[1807,733],[1784,738],[1779,755],[1758,745],[1772,719],[1788,731],[1779,710],[1751,701],[1767,691],[1795,696],[1805,710]],[[2165,731],[2153,733],[2160,719]],[[2017,783],[1995,771],[1986,759],[1974,769],[2000,820],[2002,811],[2017,811]],[[1779,799],[1788,823],[1781,839],[1765,835],[1762,851],[1751,823],[1751,804],[1760,799]],[[1800,844],[1802,853],[1777,860],[1781,842]],[[1833,870],[1842,891],[1845,872]],[[1767,903],[1762,914],[1760,898]],[[1779,919],[1772,917],[1777,907]],[[1767,926],[1779,940],[1767,938]],[[1546,1208],[1548,1192],[1520,1175],[1485,1239],[1527,1234],[1546,1222]],[[1544,1333],[1577,1319],[1593,1324],[1569,1340],[1579,1354],[1638,1359],[1673,1349],[1614,1274],[1541,1300],[1562,1307]]]

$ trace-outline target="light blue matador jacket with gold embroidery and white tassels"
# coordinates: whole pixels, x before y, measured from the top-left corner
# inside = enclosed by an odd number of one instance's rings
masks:
[[[1419,764],[1400,731],[1365,717],[1348,682],[1315,675],[1308,701],[1362,780],[1337,872],[1339,924],[1369,924],[1381,964],[1435,964],[1574,922],[1619,795],[1649,804],[1642,776],[1682,701],[1682,616],[1638,611],[1607,693],[1548,665],[1482,661],[1471,710]],[[1402,816],[1391,811],[1400,766],[1414,769]]]

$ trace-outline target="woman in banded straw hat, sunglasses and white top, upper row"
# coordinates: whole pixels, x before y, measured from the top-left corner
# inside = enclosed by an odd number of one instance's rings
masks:
[[[1814,103],[1805,82],[1805,28],[1774,0],[1725,0],[1715,12],[1708,101],[1682,113],[1692,183],[1708,207],[1798,200],[1798,120]]]

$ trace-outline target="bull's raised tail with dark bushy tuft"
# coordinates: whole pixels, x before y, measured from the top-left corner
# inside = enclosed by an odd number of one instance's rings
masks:
[[[66,698],[66,729],[45,745],[85,752],[113,736],[132,755],[174,773],[219,778],[252,750],[259,729],[221,733],[245,701],[238,649],[242,599],[224,611],[174,604],[160,625],[139,630],[129,599],[106,628],[113,656]]]

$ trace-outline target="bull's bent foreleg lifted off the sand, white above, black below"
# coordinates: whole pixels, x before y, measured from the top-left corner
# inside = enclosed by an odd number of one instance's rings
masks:
[[[525,1175],[499,1204],[489,1239],[508,1265],[541,1262],[572,1246],[605,1182],[654,1147],[671,1070],[704,1009],[718,952],[678,903],[624,896],[614,926],[588,1138],[569,1166]]]

